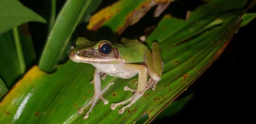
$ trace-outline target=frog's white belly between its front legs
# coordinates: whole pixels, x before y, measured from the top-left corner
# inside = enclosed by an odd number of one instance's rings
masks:
[[[92,64],[94,67],[107,73],[110,76],[115,76],[123,79],[131,78],[138,74],[137,71],[124,70],[122,64]]]

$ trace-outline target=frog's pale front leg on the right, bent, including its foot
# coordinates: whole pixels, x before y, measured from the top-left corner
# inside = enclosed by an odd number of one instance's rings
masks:
[[[132,90],[131,88],[125,87],[125,90],[130,90],[132,92],[135,92],[130,98],[128,98],[125,101],[119,102],[119,103],[112,103],[111,109],[114,110],[117,106],[125,104],[129,101],[131,101],[129,104],[125,105],[121,109],[118,110],[120,114],[124,113],[124,110],[128,107],[131,107],[132,104],[134,104],[147,90],[146,84],[147,84],[147,67],[145,65],[133,65],[133,64],[124,64],[125,71],[137,71],[139,78],[138,78],[138,86],[137,90]]]

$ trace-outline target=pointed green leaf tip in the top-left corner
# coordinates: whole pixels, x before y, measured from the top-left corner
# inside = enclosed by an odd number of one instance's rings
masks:
[[[46,23],[43,17],[18,0],[0,0],[0,3],[0,34],[29,21]]]

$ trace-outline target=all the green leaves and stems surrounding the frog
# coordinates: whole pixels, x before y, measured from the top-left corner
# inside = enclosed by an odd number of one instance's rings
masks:
[[[49,36],[41,56],[38,56],[39,66],[34,65],[29,69],[36,59],[33,47],[36,42],[32,43],[27,24],[19,28],[16,26],[28,21],[44,23],[45,20],[17,0],[0,0],[5,3],[0,5],[5,10],[0,11],[0,15],[3,15],[0,16],[1,23],[2,20],[3,24],[8,22],[4,19],[13,22],[10,25],[0,24],[0,44],[3,46],[0,49],[0,96],[10,89],[0,102],[0,122],[134,123],[140,117],[146,117],[146,123],[151,122],[220,56],[238,30],[241,17],[250,3],[247,0],[211,0],[189,11],[186,20],[172,17],[166,11],[160,16],[172,1],[119,0],[97,11],[89,21],[90,14],[102,0],[67,0],[56,20],[55,11],[52,11]],[[51,2],[55,5],[55,0]],[[124,114],[119,114],[118,108],[112,111],[110,104],[104,105],[99,101],[90,117],[83,120],[83,114],[78,115],[77,109],[90,101],[93,95],[93,85],[89,82],[93,78],[94,68],[70,60],[57,65],[61,57],[67,57],[70,39],[74,31],[78,30],[77,25],[89,21],[87,29],[84,29],[87,30],[85,37],[118,40],[126,28],[140,21],[152,9],[156,10],[154,17],[160,18],[160,21],[150,34],[146,34],[145,43],[149,47],[153,41],[160,43],[160,53],[165,64],[156,90],[146,91]],[[242,26],[254,17],[255,14],[250,17],[245,15],[246,22]],[[136,76],[131,79],[107,76],[102,81],[102,87],[109,82],[115,82],[115,85],[103,96],[110,103],[123,101],[132,95],[123,90],[125,85],[137,87]],[[184,101],[174,101],[168,108],[175,114],[180,110],[177,108],[182,107],[188,99],[191,99],[190,96]]]

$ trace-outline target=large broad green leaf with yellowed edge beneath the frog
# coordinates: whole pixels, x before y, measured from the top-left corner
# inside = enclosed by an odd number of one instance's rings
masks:
[[[229,6],[226,6],[227,3]],[[149,123],[224,51],[241,23],[244,6],[247,6],[247,2],[220,0],[197,8],[189,21],[177,20],[169,15],[163,17],[147,39],[148,45],[152,40],[160,43],[165,64],[162,79],[157,83],[156,90],[146,91],[123,114],[118,113],[118,108],[111,110],[110,104],[104,105],[102,101],[98,101],[89,118],[83,120],[84,113],[78,115],[77,110],[93,96],[93,84],[90,84],[90,80],[93,78],[94,68],[89,64],[68,61],[59,65],[52,74],[41,71],[37,66],[29,70],[1,101],[0,122],[134,123],[139,117],[148,115],[145,123]],[[217,19],[223,22],[207,28]],[[191,28],[195,32],[189,34],[191,30],[187,30]],[[202,28],[207,30],[202,31]],[[136,87],[137,76],[131,79],[107,76],[102,80],[102,87],[109,82],[115,84],[103,96],[109,103],[119,102],[132,95],[131,92],[124,91],[123,87]]]

